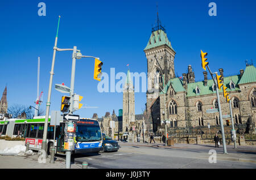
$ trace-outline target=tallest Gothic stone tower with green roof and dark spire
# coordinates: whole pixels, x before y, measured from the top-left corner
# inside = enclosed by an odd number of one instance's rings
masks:
[[[144,53],[147,58],[147,104],[146,112],[148,121],[152,122],[153,131],[159,129],[161,122],[159,93],[163,83],[175,78],[174,58],[176,52],[172,49],[167,33],[162,25],[152,28],[150,39]]]

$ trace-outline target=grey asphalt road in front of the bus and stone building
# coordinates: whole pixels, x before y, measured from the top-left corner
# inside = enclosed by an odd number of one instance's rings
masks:
[[[75,155],[73,163],[82,164],[87,161],[90,168],[99,169],[256,168],[256,151],[253,149],[228,148],[228,155],[224,155],[222,146],[119,144],[121,148],[118,152]],[[216,154],[209,154],[210,149]]]

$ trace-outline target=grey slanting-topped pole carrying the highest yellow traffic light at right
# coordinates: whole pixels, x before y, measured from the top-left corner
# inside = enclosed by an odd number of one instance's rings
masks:
[[[222,113],[221,113],[221,104],[220,104],[220,95],[218,93],[218,84],[216,78],[213,77],[212,71],[210,71],[209,66],[207,65],[207,68],[210,72],[210,76],[212,76],[213,82],[216,85],[216,95],[217,95],[217,101],[218,101],[218,112],[220,114],[220,124],[221,124],[221,134],[222,134],[222,143],[223,143],[223,150],[224,154],[228,154],[226,152],[226,139],[225,139],[225,132],[224,132],[224,126],[223,126],[223,119],[222,119]]]

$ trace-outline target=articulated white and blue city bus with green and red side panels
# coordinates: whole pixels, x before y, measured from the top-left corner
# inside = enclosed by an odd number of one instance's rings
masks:
[[[43,142],[44,131],[43,117],[35,117],[35,119],[6,119],[0,122],[0,132],[2,136],[11,137],[20,136],[30,143],[30,149],[40,150]],[[48,120],[47,131],[47,153],[49,149],[55,147],[55,153],[65,154],[64,151],[64,128],[65,122],[60,121],[59,126],[51,126],[50,118]],[[76,144],[73,153],[99,152],[102,150],[102,132],[100,124],[96,119],[80,118],[76,122]]]

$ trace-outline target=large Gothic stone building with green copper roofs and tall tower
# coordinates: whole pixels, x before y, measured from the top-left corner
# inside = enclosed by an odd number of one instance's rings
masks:
[[[152,29],[144,53],[147,58],[148,91],[146,93],[147,122],[152,122],[154,132],[163,132],[163,120],[169,132],[188,132],[192,128],[210,125],[220,129],[220,117],[217,113],[207,113],[207,109],[218,109],[216,87],[203,72],[204,80],[196,82],[192,66],[182,77],[175,76],[175,50],[168,40],[162,25]],[[184,66],[184,65],[182,65]],[[237,75],[225,76],[224,69],[219,69],[222,82],[230,93],[235,127],[245,130],[250,124],[254,131],[256,121],[256,68],[246,64],[245,70]],[[222,114],[230,114],[229,104],[220,91]],[[223,118],[224,125],[230,126],[230,117]]]

